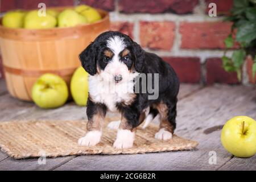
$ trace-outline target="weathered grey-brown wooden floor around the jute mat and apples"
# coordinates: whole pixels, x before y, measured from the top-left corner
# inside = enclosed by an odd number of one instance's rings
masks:
[[[221,127],[236,115],[256,118],[255,86],[181,85],[176,134],[200,142],[197,150],[137,155],[84,155],[46,159],[15,160],[0,152],[1,170],[256,170],[256,155],[242,159],[221,145]],[[59,109],[43,110],[18,101],[0,80],[0,121],[12,119],[85,119],[85,107],[73,102]],[[216,164],[210,164],[216,154]],[[210,160],[211,161],[211,160]]]

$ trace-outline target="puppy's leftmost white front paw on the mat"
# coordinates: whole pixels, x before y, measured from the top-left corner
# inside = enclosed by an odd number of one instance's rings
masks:
[[[95,146],[101,140],[101,131],[88,131],[85,137],[78,140],[80,146]]]

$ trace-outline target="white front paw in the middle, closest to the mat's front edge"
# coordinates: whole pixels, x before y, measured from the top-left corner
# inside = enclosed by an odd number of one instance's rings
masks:
[[[117,139],[113,144],[115,148],[131,148],[133,147],[135,134],[130,130],[118,130]]]

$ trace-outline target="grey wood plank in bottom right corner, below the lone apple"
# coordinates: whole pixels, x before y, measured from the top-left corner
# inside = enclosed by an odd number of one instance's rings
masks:
[[[232,158],[224,166],[218,170],[232,170],[232,171],[256,171],[256,155],[251,158]]]

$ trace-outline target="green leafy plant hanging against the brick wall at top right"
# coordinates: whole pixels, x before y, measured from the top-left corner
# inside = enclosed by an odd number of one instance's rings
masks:
[[[222,67],[226,72],[237,72],[241,80],[241,69],[246,55],[253,57],[253,77],[256,73],[256,0],[234,0],[234,5],[225,20],[233,22],[232,30],[224,40],[226,48],[232,48],[234,42],[240,44],[240,48],[233,52],[232,57],[226,56],[226,50],[222,57]],[[236,39],[233,36],[236,32]]]

